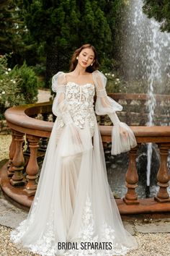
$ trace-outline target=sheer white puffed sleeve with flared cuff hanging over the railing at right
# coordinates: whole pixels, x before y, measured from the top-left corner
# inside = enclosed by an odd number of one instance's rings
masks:
[[[99,71],[93,72],[94,84],[97,91],[95,111],[98,115],[108,114],[114,127],[112,128],[112,155],[129,151],[137,145],[135,135],[127,124],[122,123],[116,111],[122,111],[122,106],[107,96],[105,86],[107,78]]]

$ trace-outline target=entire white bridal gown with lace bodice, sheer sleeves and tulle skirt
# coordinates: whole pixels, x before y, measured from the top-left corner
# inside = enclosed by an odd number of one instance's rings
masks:
[[[107,181],[102,140],[94,113],[108,114],[112,129],[112,154],[130,150],[136,141],[115,111],[122,106],[107,96],[106,77],[92,73],[94,84],[66,82],[58,72],[52,80],[56,92],[53,114],[57,119],[48,142],[37,192],[27,219],[11,232],[19,247],[40,255],[125,255],[137,247],[125,231]],[[128,136],[120,135],[120,127]],[[91,139],[92,137],[92,139]],[[88,243],[97,246],[82,247]],[[70,243],[77,249],[58,245]],[[106,248],[100,244],[108,243]]]

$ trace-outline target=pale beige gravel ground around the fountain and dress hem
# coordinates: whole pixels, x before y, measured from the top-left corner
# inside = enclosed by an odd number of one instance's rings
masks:
[[[11,142],[11,135],[0,135],[0,161],[4,158],[8,158],[9,154],[9,145]],[[1,213],[2,214],[2,213]],[[157,221],[158,222],[158,221]],[[138,231],[135,231],[135,237],[138,241],[139,247],[138,249],[129,252],[127,256],[170,256],[170,223],[166,223],[166,228],[168,231],[164,229],[165,227],[165,221],[162,221],[159,223],[153,223],[155,226],[157,226],[157,229],[153,229],[153,231],[150,231],[151,224],[148,224],[148,226],[144,226],[143,223],[137,223],[137,226],[140,226],[138,229],[143,234]],[[125,223],[127,225],[127,221]],[[125,226],[126,226],[125,225]],[[131,227],[134,226],[134,223],[128,223],[128,225]],[[145,231],[143,231],[145,229]],[[9,242],[9,233],[12,229],[3,225],[0,225],[0,256],[33,256],[37,254],[33,254],[32,252],[28,252],[24,249],[17,249],[17,247]],[[167,233],[156,233],[154,232],[167,232]]]

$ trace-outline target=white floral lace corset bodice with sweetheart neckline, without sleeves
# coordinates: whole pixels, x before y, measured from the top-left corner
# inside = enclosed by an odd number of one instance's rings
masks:
[[[78,85],[68,82],[65,88],[65,99],[74,124],[83,129],[85,123],[90,129],[94,129],[94,94],[95,88],[91,83]],[[60,127],[63,127],[63,119],[59,117]]]

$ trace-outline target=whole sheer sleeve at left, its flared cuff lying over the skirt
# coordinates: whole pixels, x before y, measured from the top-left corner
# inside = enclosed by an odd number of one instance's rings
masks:
[[[63,119],[65,124],[61,134],[61,156],[71,157],[86,152],[91,148],[91,143],[87,140],[89,134],[86,131],[81,131],[73,122],[71,109],[66,101],[66,75],[63,72],[58,72],[53,76],[52,90],[56,93],[52,106],[53,114]]]

